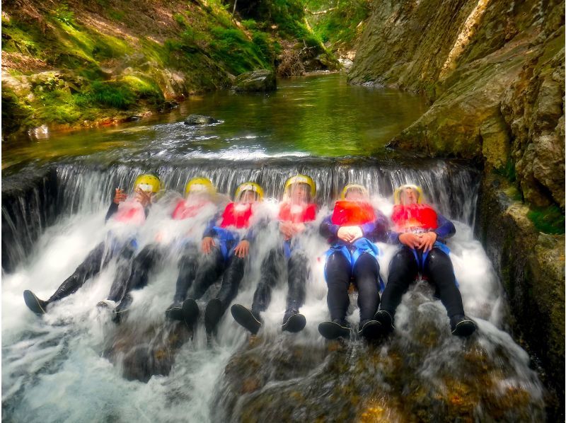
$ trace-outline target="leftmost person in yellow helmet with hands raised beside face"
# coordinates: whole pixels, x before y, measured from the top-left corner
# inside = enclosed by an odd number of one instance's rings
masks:
[[[128,197],[123,190],[116,188],[112,203],[106,213],[105,222],[112,221],[115,224],[141,226],[144,224],[151,202],[160,187],[159,178],[155,175],[139,175],[134,182],[134,195]],[[112,257],[118,257],[117,279],[112,284],[108,299],[118,302],[122,300],[125,292],[121,289],[120,278],[128,277],[129,261],[132,260],[137,250],[137,241],[134,238],[120,238],[110,231],[105,241],[98,244],[96,248],[88,253],[86,259],[76,270],[59,286],[47,300],[41,300],[32,291],[23,292],[25,305],[37,315],[47,311],[47,306],[74,294],[83,284],[96,276],[110,262]]]

